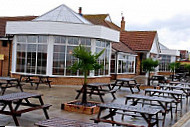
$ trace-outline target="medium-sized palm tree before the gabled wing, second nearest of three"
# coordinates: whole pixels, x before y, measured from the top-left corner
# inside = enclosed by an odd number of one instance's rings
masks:
[[[150,86],[150,72],[158,66],[158,61],[154,61],[151,58],[142,60],[143,70],[148,73],[148,86]]]

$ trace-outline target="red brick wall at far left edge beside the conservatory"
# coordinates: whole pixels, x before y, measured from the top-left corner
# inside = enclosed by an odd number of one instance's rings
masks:
[[[3,60],[3,67],[1,65],[2,62],[0,61],[0,76],[8,76],[9,43],[7,44],[7,47],[3,47],[2,43],[3,42],[0,41],[0,54],[4,54],[4,60]],[[12,45],[11,45],[11,49],[12,49]],[[11,60],[12,60],[12,56],[11,55],[12,55],[12,51],[10,53],[10,69],[11,69]],[[2,72],[2,75],[1,75],[1,72]]]

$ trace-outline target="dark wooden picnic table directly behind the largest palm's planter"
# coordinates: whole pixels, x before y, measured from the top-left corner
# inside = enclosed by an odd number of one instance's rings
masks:
[[[102,102],[104,102],[104,99],[102,96],[108,93],[112,95],[113,99],[116,99],[114,94],[117,90],[113,90],[109,83],[90,83],[90,84],[87,84],[86,87],[87,87],[87,94],[89,94],[90,97],[92,95],[98,95]],[[78,99],[83,91],[84,91],[84,87],[82,87],[80,90],[77,90],[78,94],[75,99]]]

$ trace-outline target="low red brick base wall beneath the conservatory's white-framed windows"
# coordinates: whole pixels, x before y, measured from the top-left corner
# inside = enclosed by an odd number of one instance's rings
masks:
[[[19,74],[12,74],[12,77],[19,78]],[[94,77],[94,78],[88,78],[88,83],[95,83],[95,82],[101,82],[101,83],[110,83],[111,77]],[[77,78],[77,77],[54,77],[50,78],[52,81],[52,85],[82,85],[84,82],[83,78]]]

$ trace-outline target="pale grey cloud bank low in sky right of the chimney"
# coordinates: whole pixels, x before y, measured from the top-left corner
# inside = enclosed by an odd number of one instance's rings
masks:
[[[159,40],[165,45],[190,49],[190,14],[178,14],[166,20],[154,20],[148,24],[133,24],[126,21],[126,30],[156,30]],[[180,43],[180,42],[183,42]],[[186,45],[184,45],[186,44]],[[169,47],[169,48],[173,48]]]

